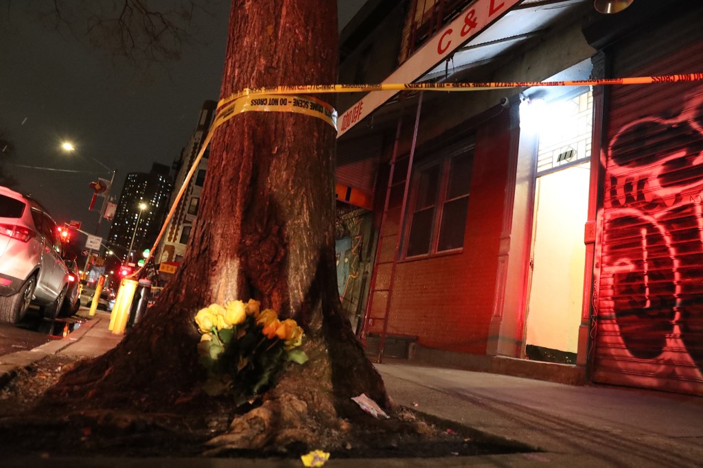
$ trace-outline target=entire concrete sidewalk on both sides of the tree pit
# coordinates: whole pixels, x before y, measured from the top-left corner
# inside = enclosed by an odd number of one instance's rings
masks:
[[[87,309],[80,313],[87,315]],[[63,339],[0,356],[0,385],[49,354],[99,356],[122,335],[99,312]],[[480,437],[534,452],[476,457],[329,460],[325,467],[699,467],[703,398],[615,386],[573,386],[509,375],[378,364],[393,401]],[[8,454],[4,454],[8,455]],[[3,456],[0,456],[0,460]],[[299,460],[9,458],[2,467],[301,467]]]

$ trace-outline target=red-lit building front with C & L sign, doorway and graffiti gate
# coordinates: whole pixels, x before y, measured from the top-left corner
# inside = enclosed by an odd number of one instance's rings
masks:
[[[352,22],[340,82],[537,84],[340,99],[370,356],[703,395],[701,82],[538,85],[699,73],[702,5],[400,3]]]

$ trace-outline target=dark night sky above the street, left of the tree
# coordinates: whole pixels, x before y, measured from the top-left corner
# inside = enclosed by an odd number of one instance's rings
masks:
[[[103,165],[117,170],[112,194],[119,195],[129,172],[172,164],[202,102],[219,98],[229,2],[214,2],[214,16],[195,16],[199,44],[186,46],[177,63],[148,72],[41,25],[34,13],[53,0],[1,3],[0,135],[14,143],[15,155],[0,152],[0,171],[59,223],[82,221],[82,229],[93,232],[98,215],[88,211],[89,183],[110,178]],[[340,0],[340,25],[361,4]],[[60,150],[63,140],[72,141],[75,152]],[[108,223],[102,224],[106,236]]]

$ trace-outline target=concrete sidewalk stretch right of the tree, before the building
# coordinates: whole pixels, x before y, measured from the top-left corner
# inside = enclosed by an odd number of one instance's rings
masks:
[[[703,398],[380,364],[396,403],[520,441],[576,466],[703,466]]]

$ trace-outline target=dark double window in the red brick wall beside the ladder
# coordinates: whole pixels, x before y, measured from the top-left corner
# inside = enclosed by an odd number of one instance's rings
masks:
[[[473,150],[448,155],[420,167],[413,176],[405,256],[461,249]]]

